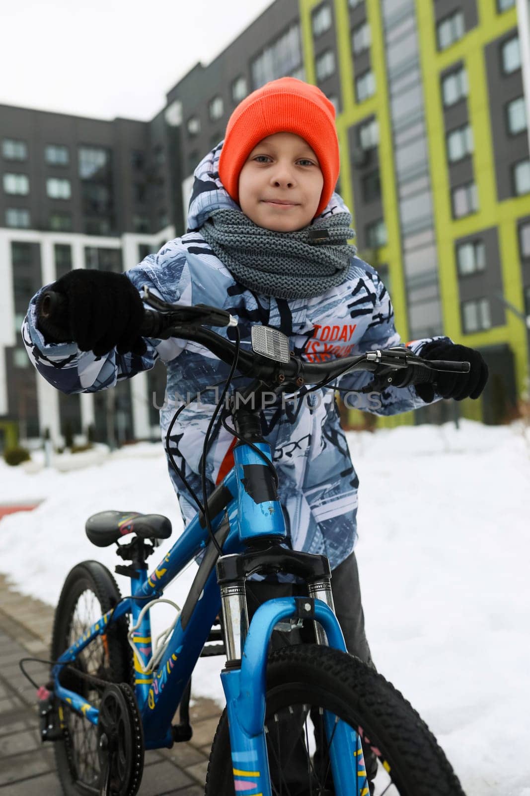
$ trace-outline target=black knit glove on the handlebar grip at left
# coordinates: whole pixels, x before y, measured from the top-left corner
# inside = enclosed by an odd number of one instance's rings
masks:
[[[140,294],[125,274],[75,268],[50,288],[67,299],[63,322],[44,318],[37,303],[37,327],[49,342],[74,340],[81,351],[101,357],[114,347],[118,353],[145,353],[138,334],[144,315]]]

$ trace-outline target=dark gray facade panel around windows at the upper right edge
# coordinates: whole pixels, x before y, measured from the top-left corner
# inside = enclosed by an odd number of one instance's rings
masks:
[[[489,42],[484,49],[497,201],[513,197],[512,168],[516,162],[528,158],[527,132],[522,131],[517,135],[509,135],[506,124],[506,104],[524,93],[520,69],[509,75],[502,72],[501,47],[516,33],[517,29],[513,28],[503,36]]]

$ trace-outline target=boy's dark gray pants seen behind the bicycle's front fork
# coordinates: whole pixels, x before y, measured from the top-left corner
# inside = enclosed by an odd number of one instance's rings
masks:
[[[346,649],[351,655],[359,657],[375,669],[368,642],[366,641],[357,560],[353,552],[331,572],[331,591],[335,603],[335,614],[342,627]],[[257,607],[267,599],[304,594],[307,594],[306,587],[292,583],[247,580],[246,595],[249,619],[252,618]],[[308,623],[308,627],[304,626],[304,628],[292,630],[290,633],[274,630],[270,646],[273,650],[276,650],[288,644],[300,644],[302,642],[315,642],[312,622]],[[318,770],[320,768],[321,771],[327,771],[327,754],[322,751],[319,743],[319,737],[323,738],[323,728],[319,724],[321,719],[316,711],[311,711],[311,720],[315,726],[317,747],[314,759],[315,769]],[[308,759],[305,751],[303,724],[304,715],[301,708],[298,712],[291,711],[288,716],[280,718],[280,751],[274,753],[274,755],[269,751],[269,767],[273,782],[277,782],[278,786],[283,783],[287,786],[288,793],[292,794],[308,793]],[[377,761],[372,758],[373,755],[369,755],[369,758],[365,755],[369,771],[377,769]],[[329,782],[326,784],[330,788],[327,792],[333,793]]]

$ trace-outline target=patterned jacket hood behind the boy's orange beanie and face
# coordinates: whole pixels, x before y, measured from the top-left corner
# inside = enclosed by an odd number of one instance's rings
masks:
[[[219,178],[219,157],[222,141],[201,160],[193,172],[194,181],[188,205],[187,232],[196,232],[211,216],[214,210],[239,210],[240,206],[229,196]],[[335,213],[350,213],[339,193],[331,194],[331,199],[317,218],[326,218]]]

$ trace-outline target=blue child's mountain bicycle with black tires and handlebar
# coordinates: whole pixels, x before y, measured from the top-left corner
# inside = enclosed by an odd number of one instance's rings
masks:
[[[308,363],[292,356],[278,330],[254,326],[252,350],[242,350],[234,318],[215,307],[180,307],[149,291],[141,334],[196,341],[231,365],[208,435],[236,369],[253,379],[232,393],[221,420],[237,438],[234,467],[207,494],[184,533],[148,574],[145,560],[171,525],[160,515],[107,511],[87,521],[99,547],[117,544],[117,572],[130,576],[122,597],[97,561],[68,574],[56,607],[52,677],[41,690],[41,735],[53,740],[66,796],[133,796],[145,749],[188,740],[191,674],[212,640],[226,664],[221,672],[226,709],[211,750],[206,794],[242,796],[458,796],[462,788],[434,736],[393,686],[346,653],[333,610],[325,556],[285,544],[278,475],[261,435],[260,396],[320,389],[346,370],[367,369],[388,384],[400,369],[414,383],[466,363],[424,361],[408,349]],[[43,310],[61,311],[52,293]],[[205,326],[235,326],[235,343]],[[469,367],[469,365],[468,365]],[[238,400],[238,396],[241,400]],[[227,419],[231,416],[231,425]],[[171,427],[168,429],[168,437]],[[168,454],[172,458],[168,443]],[[172,460],[173,466],[176,463]],[[178,468],[177,468],[178,471]],[[230,516],[230,521],[228,517]],[[129,539],[128,541],[126,541]],[[186,565],[202,553],[195,580],[176,621],[153,645],[149,609]],[[296,594],[269,599],[249,621],[246,581],[286,573]],[[219,628],[217,627],[219,618]],[[309,634],[312,643],[268,654],[275,628]],[[180,705],[180,723],[172,726]]]

